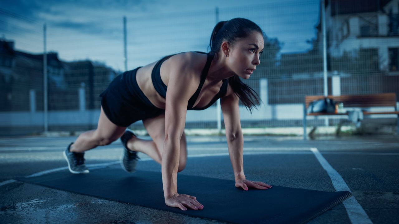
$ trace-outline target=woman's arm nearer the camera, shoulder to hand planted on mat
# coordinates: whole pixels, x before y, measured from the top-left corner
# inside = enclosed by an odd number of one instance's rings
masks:
[[[182,57],[183,55],[178,55]],[[187,60],[187,61],[186,61]],[[186,61],[186,62],[182,62]],[[182,66],[176,66],[170,73],[166,91],[165,139],[162,152],[162,185],[165,203],[168,206],[187,210],[202,209],[203,206],[190,195],[177,192],[177,171],[180,158],[180,139],[186,124],[188,100],[194,94],[199,82],[192,77],[188,59],[182,57]],[[191,74],[190,74],[191,73]]]

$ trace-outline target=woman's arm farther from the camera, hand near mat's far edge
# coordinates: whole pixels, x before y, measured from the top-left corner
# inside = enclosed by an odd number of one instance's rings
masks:
[[[248,190],[248,187],[257,189],[269,189],[272,186],[260,181],[249,181],[245,179],[243,164],[244,136],[241,130],[239,97],[231,93],[220,98],[220,105],[223,113],[223,120],[226,128],[227,146],[231,165],[233,166],[235,187],[242,187]]]

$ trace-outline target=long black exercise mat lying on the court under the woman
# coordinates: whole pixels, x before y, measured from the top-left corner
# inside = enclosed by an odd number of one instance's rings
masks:
[[[275,185],[267,190],[244,191],[236,188],[233,180],[178,174],[178,193],[196,196],[204,206],[203,210],[183,211],[165,204],[160,172],[138,170],[126,173],[122,169],[106,168],[92,170],[89,174],[62,171],[17,179],[73,193],[233,223],[305,223],[352,195],[349,191],[314,191]]]

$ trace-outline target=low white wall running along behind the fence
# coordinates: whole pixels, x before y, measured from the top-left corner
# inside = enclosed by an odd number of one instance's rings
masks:
[[[253,110],[253,114],[243,106],[240,106],[241,120],[271,120],[272,107],[276,109],[277,120],[300,120],[303,118],[303,104],[277,104],[261,106],[259,110]],[[350,108],[347,108],[350,109]],[[394,111],[393,107],[365,108],[368,111]],[[100,110],[86,111],[49,111],[49,126],[76,126],[76,125],[97,125],[100,116]],[[322,119],[325,116],[318,116]],[[347,118],[347,116],[341,116]],[[338,116],[329,118],[339,118]],[[371,115],[369,118],[396,118],[395,114]],[[314,116],[307,117],[308,120],[316,119]],[[216,107],[206,110],[189,110],[186,116],[186,122],[198,121],[216,121]],[[141,122],[141,121],[138,121]],[[0,112],[1,127],[26,127],[43,125],[43,112]]]

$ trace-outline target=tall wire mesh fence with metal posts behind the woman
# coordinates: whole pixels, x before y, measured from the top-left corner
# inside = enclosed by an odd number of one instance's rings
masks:
[[[266,36],[261,64],[250,79],[243,80],[259,94],[262,102],[252,114],[240,103],[241,126],[300,127],[304,97],[324,94],[324,63],[329,94],[399,94],[399,10],[392,2],[326,1],[326,45],[318,0],[127,16],[127,69],[144,66],[172,53],[207,52],[217,21],[247,18],[257,23]],[[0,24],[3,33],[0,48],[2,133],[22,129],[41,132],[43,24],[6,10],[0,10]],[[123,20],[82,22],[80,26],[87,28],[84,35],[65,29],[65,24],[46,24],[50,49],[47,53],[48,128],[50,131],[95,128],[99,94],[125,70]],[[99,37],[90,35],[90,31],[99,29]],[[13,41],[17,36],[18,41]],[[60,42],[61,46],[55,45]],[[27,53],[24,49],[39,53]],[[85,57],[87,59],[82,60]],[[205,111],[188,111],[186,128],[217,128],[220,110],[216,104]],[[392,124],[396,122],[394,115],[384,119]],[[338,120],[330,119],[330,125]],[[221,123],[224,128],[223,121]],[[324,125],[325,122],[319,119],[308,124]],[[141,122],[132,127],[143,128]]]

